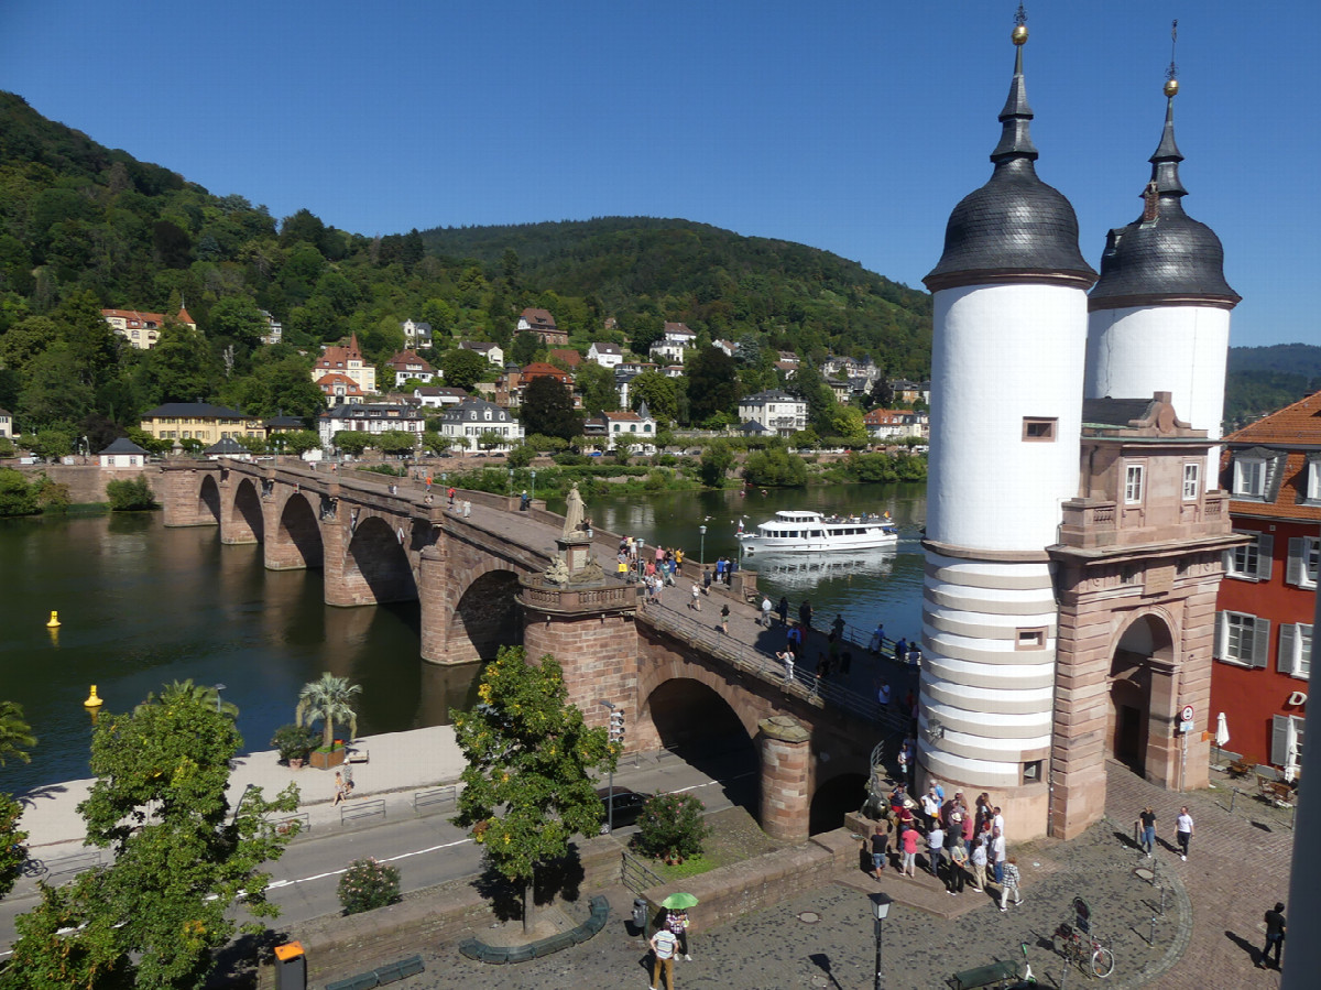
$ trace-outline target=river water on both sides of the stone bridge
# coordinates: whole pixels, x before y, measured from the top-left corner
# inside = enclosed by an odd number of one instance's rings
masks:
[[[839,612],[861,630],[884,619],[894,638],[921,628],[921,484],[622,496],[589,509],[600,526],[682,546],[692,560],[703,522],[713,560],[737,552],[740,515],[754,526],[777,509],[889,510],[896,550],[771,568],[758,587],[794,608],[810,596],[820,621]],[[57,633],[45,628],[52,611]],[[222,547],[214,526],[166,529],[160,513],[0,519],[0,699],[22,706],[38,740],[30,764],[0,768],[0,790],[89,775],[91,685],[106,711],[125,711],[173,679],[223,683],[246,747],[267,749],[293,720],[299,689],[326,670],[363,686],[359,734],[446,724],[450,707],[472,703],[478,674],[419,660],[416,603],[329,608],[320,571],[267,571],[259,546]]]

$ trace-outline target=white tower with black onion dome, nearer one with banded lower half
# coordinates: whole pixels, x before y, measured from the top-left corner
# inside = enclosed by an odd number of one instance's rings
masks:
[[[1044,834],[1057,608],[1045,547],[1078,493],[1087,288],[1037,178],[1020,21],[991,180],[950,215],[935,293],[918,764]]]

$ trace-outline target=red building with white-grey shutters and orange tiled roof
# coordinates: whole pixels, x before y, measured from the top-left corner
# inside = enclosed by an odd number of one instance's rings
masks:
[[[1321,558],[1321,393],[1225,438],[1234,531],[1217,597],[1211,731],[1292,776],[1303,756]]]

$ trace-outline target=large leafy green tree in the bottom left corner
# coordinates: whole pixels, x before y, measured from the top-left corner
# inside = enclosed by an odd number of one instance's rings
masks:
[[[262,867],[296,830],[280,834],[264,816],[296,810],[299,792],[291,785],[267,801],[255,788],[230,808],[230,761],[242,744],[234,719],[192,693],[131,715],[102,712],[96,782],[78,813],[87,843],[114,862],[65,887],[41,886],[41,903],[16,923],[11,986],[194,990],[239,928],[227,917],[235,901],[254,919],[279,913]]]

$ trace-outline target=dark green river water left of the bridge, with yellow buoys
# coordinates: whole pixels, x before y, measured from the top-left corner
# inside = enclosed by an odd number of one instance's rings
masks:
[[[328,608],[320,571],[267,571],[259,546],[160,513],[0,521],[0,698],[38,740],[0,771],[5,790],[87,776],[91,685],[125,711],[173,679],[223,683],[248,749],[269,748],[326,670],[363,686],[361,734],[445,724],[474,697],[478,665],[419,660],[417,603]]]

